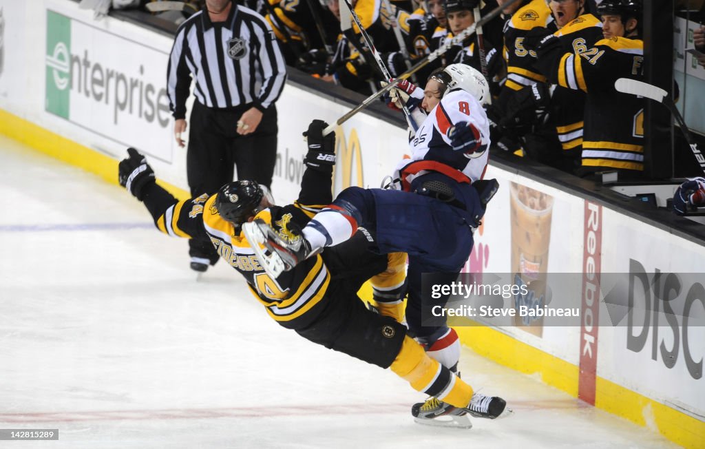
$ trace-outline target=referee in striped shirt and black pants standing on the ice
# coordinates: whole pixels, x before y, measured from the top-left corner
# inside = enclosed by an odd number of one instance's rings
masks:
[[[206,0],[176,32],[167,68],[176,142],[183,147],[186,99],[195,79],[186,172],[191,196],[213,194],[233,180],[270,187],[276,163],[274,102],[286,66],[264,18],[232,0]],[[206,271],[219,259],[209,240],[189,240],[191,268]]]

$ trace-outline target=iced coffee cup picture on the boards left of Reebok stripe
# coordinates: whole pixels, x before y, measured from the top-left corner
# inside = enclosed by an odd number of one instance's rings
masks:
[[[515,295],[517,314],[514,325],[541,337],[544,319],[520,314],[520,307],[534,309],[548,304],[546,271],[551,242],[553,197],[525,185],[510,183],[510,217],[512,228],[512,273],[517,285],[527,285],[526,295]]]

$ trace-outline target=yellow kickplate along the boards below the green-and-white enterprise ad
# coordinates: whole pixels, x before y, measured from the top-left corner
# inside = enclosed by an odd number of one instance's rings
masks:
[[[22,142],[38,152],[59,159],[73,166],[94,173],[111,184],[118,184],[118,161],[68,140],[66,137],[52,133],[35,123],[26,121],[13,113],[0,109],[0,134]],[[125,152],[127,156],[127,152]],[[191,195],[183,189],[164,181],[157,183],[168,190],[177,199],[189,199]]]

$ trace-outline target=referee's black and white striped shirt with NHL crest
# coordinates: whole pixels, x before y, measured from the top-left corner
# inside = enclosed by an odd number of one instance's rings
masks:
[[[251,103],[264,111],[283,90],[286,65],[264,18],[233,3],[223,23],[212,23],[202,10],[181,24],[166,77],[174,118],[186,116],[191,77],[196,80],[196,99],[204,106]]]

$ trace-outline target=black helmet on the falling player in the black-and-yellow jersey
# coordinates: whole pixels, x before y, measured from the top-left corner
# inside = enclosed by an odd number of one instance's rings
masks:
[[[234,181],[218,190],[215,205],[220,216],[239,230],[247,219],[259,212],[263,197],[264,191],[255,181]]]

